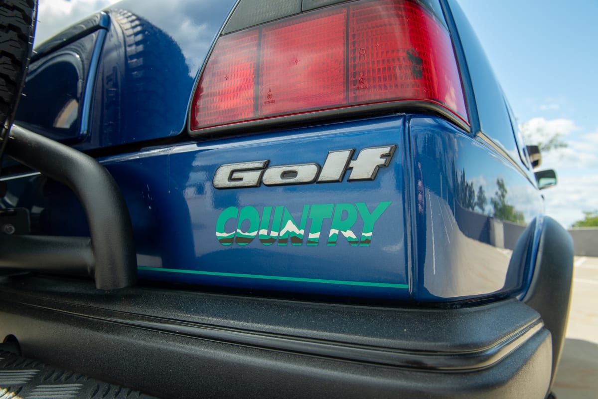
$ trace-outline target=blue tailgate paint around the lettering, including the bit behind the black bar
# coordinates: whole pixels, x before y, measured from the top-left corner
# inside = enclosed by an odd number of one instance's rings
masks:
[[[404,141],[404,117],[398,116],[155,148],[102,163],[129,206],[142,279],[408,299]],[[322,165],[329,150],[355,148],[358,153],[365,147],[395,144],[398,148],[390,165],[381,167],[373,181],[347,182],[346,173],[343,182],[326,184],[228,190],[212,185],[215,170],[225,163],[269,160],[271,166]],[[37,202],[50,203],[51,210],[45,211],[45,218],[35,217],[39,231],[86,234],[74,197],[47,184],[44,191],[50,196]],[[352,246],[341,234],[337,245],[327,245],[331,218],[322,223],[323,237],[315,246],[307,245],[307,234],[303,245],[286,246],[265,246],[258,239],[244,246],[224,246],[215,234],[219,215],[231,206],[252,206],[260,214],[266,206],[285,206],[299,221],[305,205],[365,203],[372,212],[385,201],[391,203],[376,221],[369,246]],[[307,221],[306,233],[311,223]],[[356,220],[353,231],[358,236],[363,224],[361,218]]]

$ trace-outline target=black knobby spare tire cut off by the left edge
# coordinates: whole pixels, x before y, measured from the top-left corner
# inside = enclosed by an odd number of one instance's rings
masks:
[[[36,0],[0,0],[0,162],[25,85],[36,13]]]

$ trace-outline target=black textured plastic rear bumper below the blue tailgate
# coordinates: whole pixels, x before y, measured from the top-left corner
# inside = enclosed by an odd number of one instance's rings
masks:
[[[0,339],[165,398],[544,398],[551,339],[517,300],[462,309],[315,304],[0,280]]]

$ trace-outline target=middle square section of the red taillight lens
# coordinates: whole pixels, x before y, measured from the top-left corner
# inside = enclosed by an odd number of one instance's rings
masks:
[[[309,13],[262,29],[261,59],[267,62],[260,64],[258,115],[343,105],[346,11]]]

